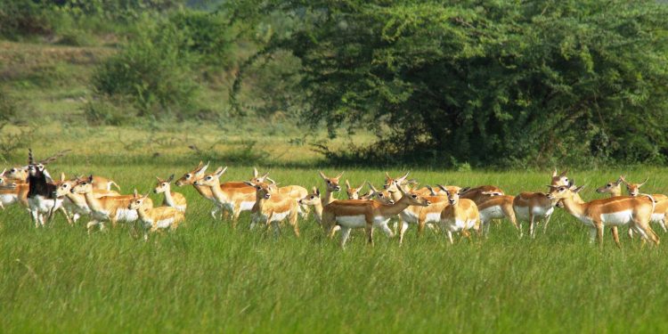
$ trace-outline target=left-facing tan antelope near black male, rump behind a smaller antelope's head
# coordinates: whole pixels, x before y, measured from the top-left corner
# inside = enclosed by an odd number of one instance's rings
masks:
[[[91,210],[92,220],[86,224],[89,233],[96,225],[100,225],[100,230],[104,230],[104,222],[106,221],[111,222],[111,225],[115,227],[118,222],[132,223],[139,218],[135,210],[127,208],[134,195],[102,196],[98,198],[93,191],[93,180],[93,175],[78,179],[71,189],[73,193],[84,195],[86,204]],[[146,199],[144,205],[152,208],[153,201]]]

